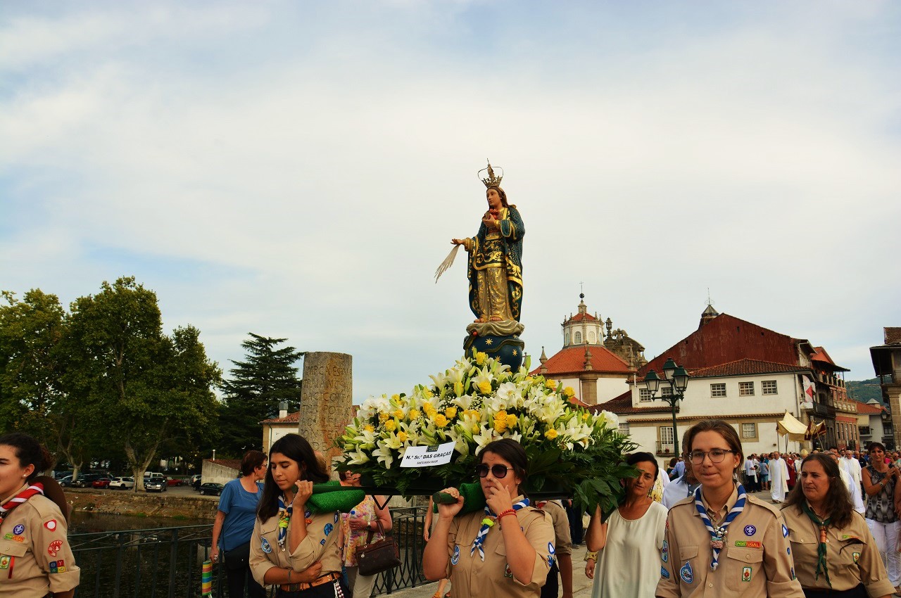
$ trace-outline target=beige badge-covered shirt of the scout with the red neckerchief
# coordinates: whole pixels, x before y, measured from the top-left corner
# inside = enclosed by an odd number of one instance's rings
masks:
[[[15,507],[0,526],[0,596],[38,598],[77,587],[80,571],[67,531],[59,507],[41,494]]]

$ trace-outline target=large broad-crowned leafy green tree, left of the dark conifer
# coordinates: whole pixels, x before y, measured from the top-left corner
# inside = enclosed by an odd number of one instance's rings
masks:
[[[71,305],[68,383],[132,469],[136,489],[167,439],[214,433],[218,367],[193,327],[162,333],[157,296],[133,277]]]

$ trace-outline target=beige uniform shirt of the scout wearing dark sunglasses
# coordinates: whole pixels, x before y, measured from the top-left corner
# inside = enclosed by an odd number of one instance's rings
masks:
[[[514,503],[519,498],[514,499]],[[507,515],[488,530],[482,547],[485,561],[478,554],[478,548],[471,555],[469,551],[478,535],[478,529],[485,518],[484,512],[473,512],[454,517],[448,532],[447,576],[451,578],[451,595],[454,598],[469,596],[491,596],[492,598],[523,598],[539,596],[542,585],[547,581],[551,561],[554,558],[554,528],[551,516],[532,507],[523,507],[515,514],[518,523],[535,549],[535,565],[529,584],[520,584],[507,566],[504,534],[501,526],[514,524],[514,515]]]

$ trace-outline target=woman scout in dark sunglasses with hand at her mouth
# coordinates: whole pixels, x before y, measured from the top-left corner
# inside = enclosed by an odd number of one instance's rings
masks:
[[[554,530],[547,513],[523,495],[528,470],[525,450],[513,439],[489,442],[477,467],[485,511],[457,516],[457,503],[440,504],[438,521],[423,554],[431,581],[451,579],[451,597],[541,595],[554,561]]]

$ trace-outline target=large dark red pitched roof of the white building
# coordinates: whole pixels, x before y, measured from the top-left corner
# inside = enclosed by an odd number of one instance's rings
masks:
[[[657,358],[651,359],[647,366],[639,370],[638,375],[643,377],[650,369],[659,373],[668,358],[675,359],[678,365],[689,371],[745,358],[797,366],[799,349],[814,352],[814,348],[806,340],[793,339],[728,313],[721,313],[660,353]]]

